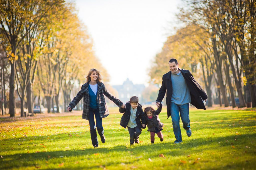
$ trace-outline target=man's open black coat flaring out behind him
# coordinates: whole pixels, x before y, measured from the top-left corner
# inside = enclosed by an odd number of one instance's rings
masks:
[[[189,70],[179,69],[182,73],[191,96],[191,104],[194,105],[197,109],[206,109],[204,105],[205,99],[208,98],[205,91],[202,89],[200,84],[195,80],[194,76],[191,74]],[[171,71],[163,75],[162,86],[159,90],[158,97],[156,102],[161,102],[166,93],[166,105],[167,105],[167,119],[171,116],[170,106],[172,101],[172,93],[173,93],[173,86],[172,86],[172,79],[171,79]]]

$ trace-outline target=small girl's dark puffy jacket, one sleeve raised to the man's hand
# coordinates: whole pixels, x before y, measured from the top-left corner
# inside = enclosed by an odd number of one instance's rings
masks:
[[[156,127],[158,130],[161,130],[161,128],[163,127],[163,123],[160,122],[160,119],[158,118],[158,115],[160,114],[160,112],[162,111],[162,107],[163,105],[160,104],[160,107],[157,108],[157,110],[155,111],[155,113],[153,114],[152,119],[148,118],[146,113],[145,113],[145,117],[146,117],[146,121],[147,121],[147,127],[149,132],[156,132]]]

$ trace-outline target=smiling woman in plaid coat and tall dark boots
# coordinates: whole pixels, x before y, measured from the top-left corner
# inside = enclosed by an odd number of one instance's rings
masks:
[[[69,103],[67,108],[71,111],[83,97],[83,115],[82,119],[89,120],[91,140],[93,147],[98,147],[97,131],[102,143],[105,143],[104,130],[102,127],[102,118],[109,115],[109,111],[103,94],[112,100],[118,107],[125,108],[125,105],[118,98],[108,92],[105,85],[101,82],[101,75],[98,70],[91,69],[87,75],[87,81],[82,85],[80,92]],[[94,116],[96,125],[94,122]]]

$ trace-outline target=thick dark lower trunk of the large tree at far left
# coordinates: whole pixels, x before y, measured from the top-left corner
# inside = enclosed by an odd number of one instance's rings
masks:
[[[10,82],[9,82],[9,114],[10,117],[15,116],[15,98],[14,98],[14,78],[15,78],[15,61],[10,62],[11,65],[11,74],[10,74]]]

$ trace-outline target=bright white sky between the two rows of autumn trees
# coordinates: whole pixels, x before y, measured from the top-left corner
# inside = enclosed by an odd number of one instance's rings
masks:
[[[175,0],[74,0],[94,51],[110,75],[110,85],[150,81],[148,72],[173,31]],[[101,68],[96,68],[101,70]],[[166,65],[168,72],[168,63]]]

